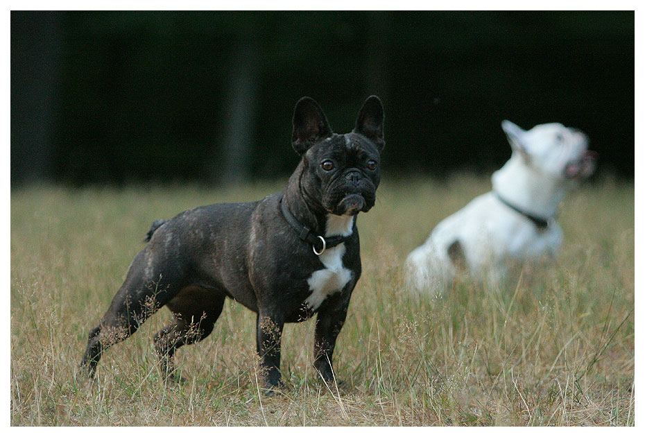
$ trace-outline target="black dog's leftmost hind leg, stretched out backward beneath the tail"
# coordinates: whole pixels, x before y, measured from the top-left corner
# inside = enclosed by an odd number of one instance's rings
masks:
[[[139,252],[130,265],[125,282],[114,295],[101,323],[89,333],[80,367],[94,378],[101,354],[110,346],[137,332],[148,317],[178,292],[180,275],[173,268],[155,268],[148,250]]]

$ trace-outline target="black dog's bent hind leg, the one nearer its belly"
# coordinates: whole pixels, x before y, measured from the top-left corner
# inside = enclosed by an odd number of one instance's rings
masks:
[[[225,295],[218,291],[188,286],[168,302],[173,320],[155,334],[155,350],[162,378],[170,382],[186,382],[175,372],[173,355],[178,348],[202,341],[213,331],[224,300]]]

